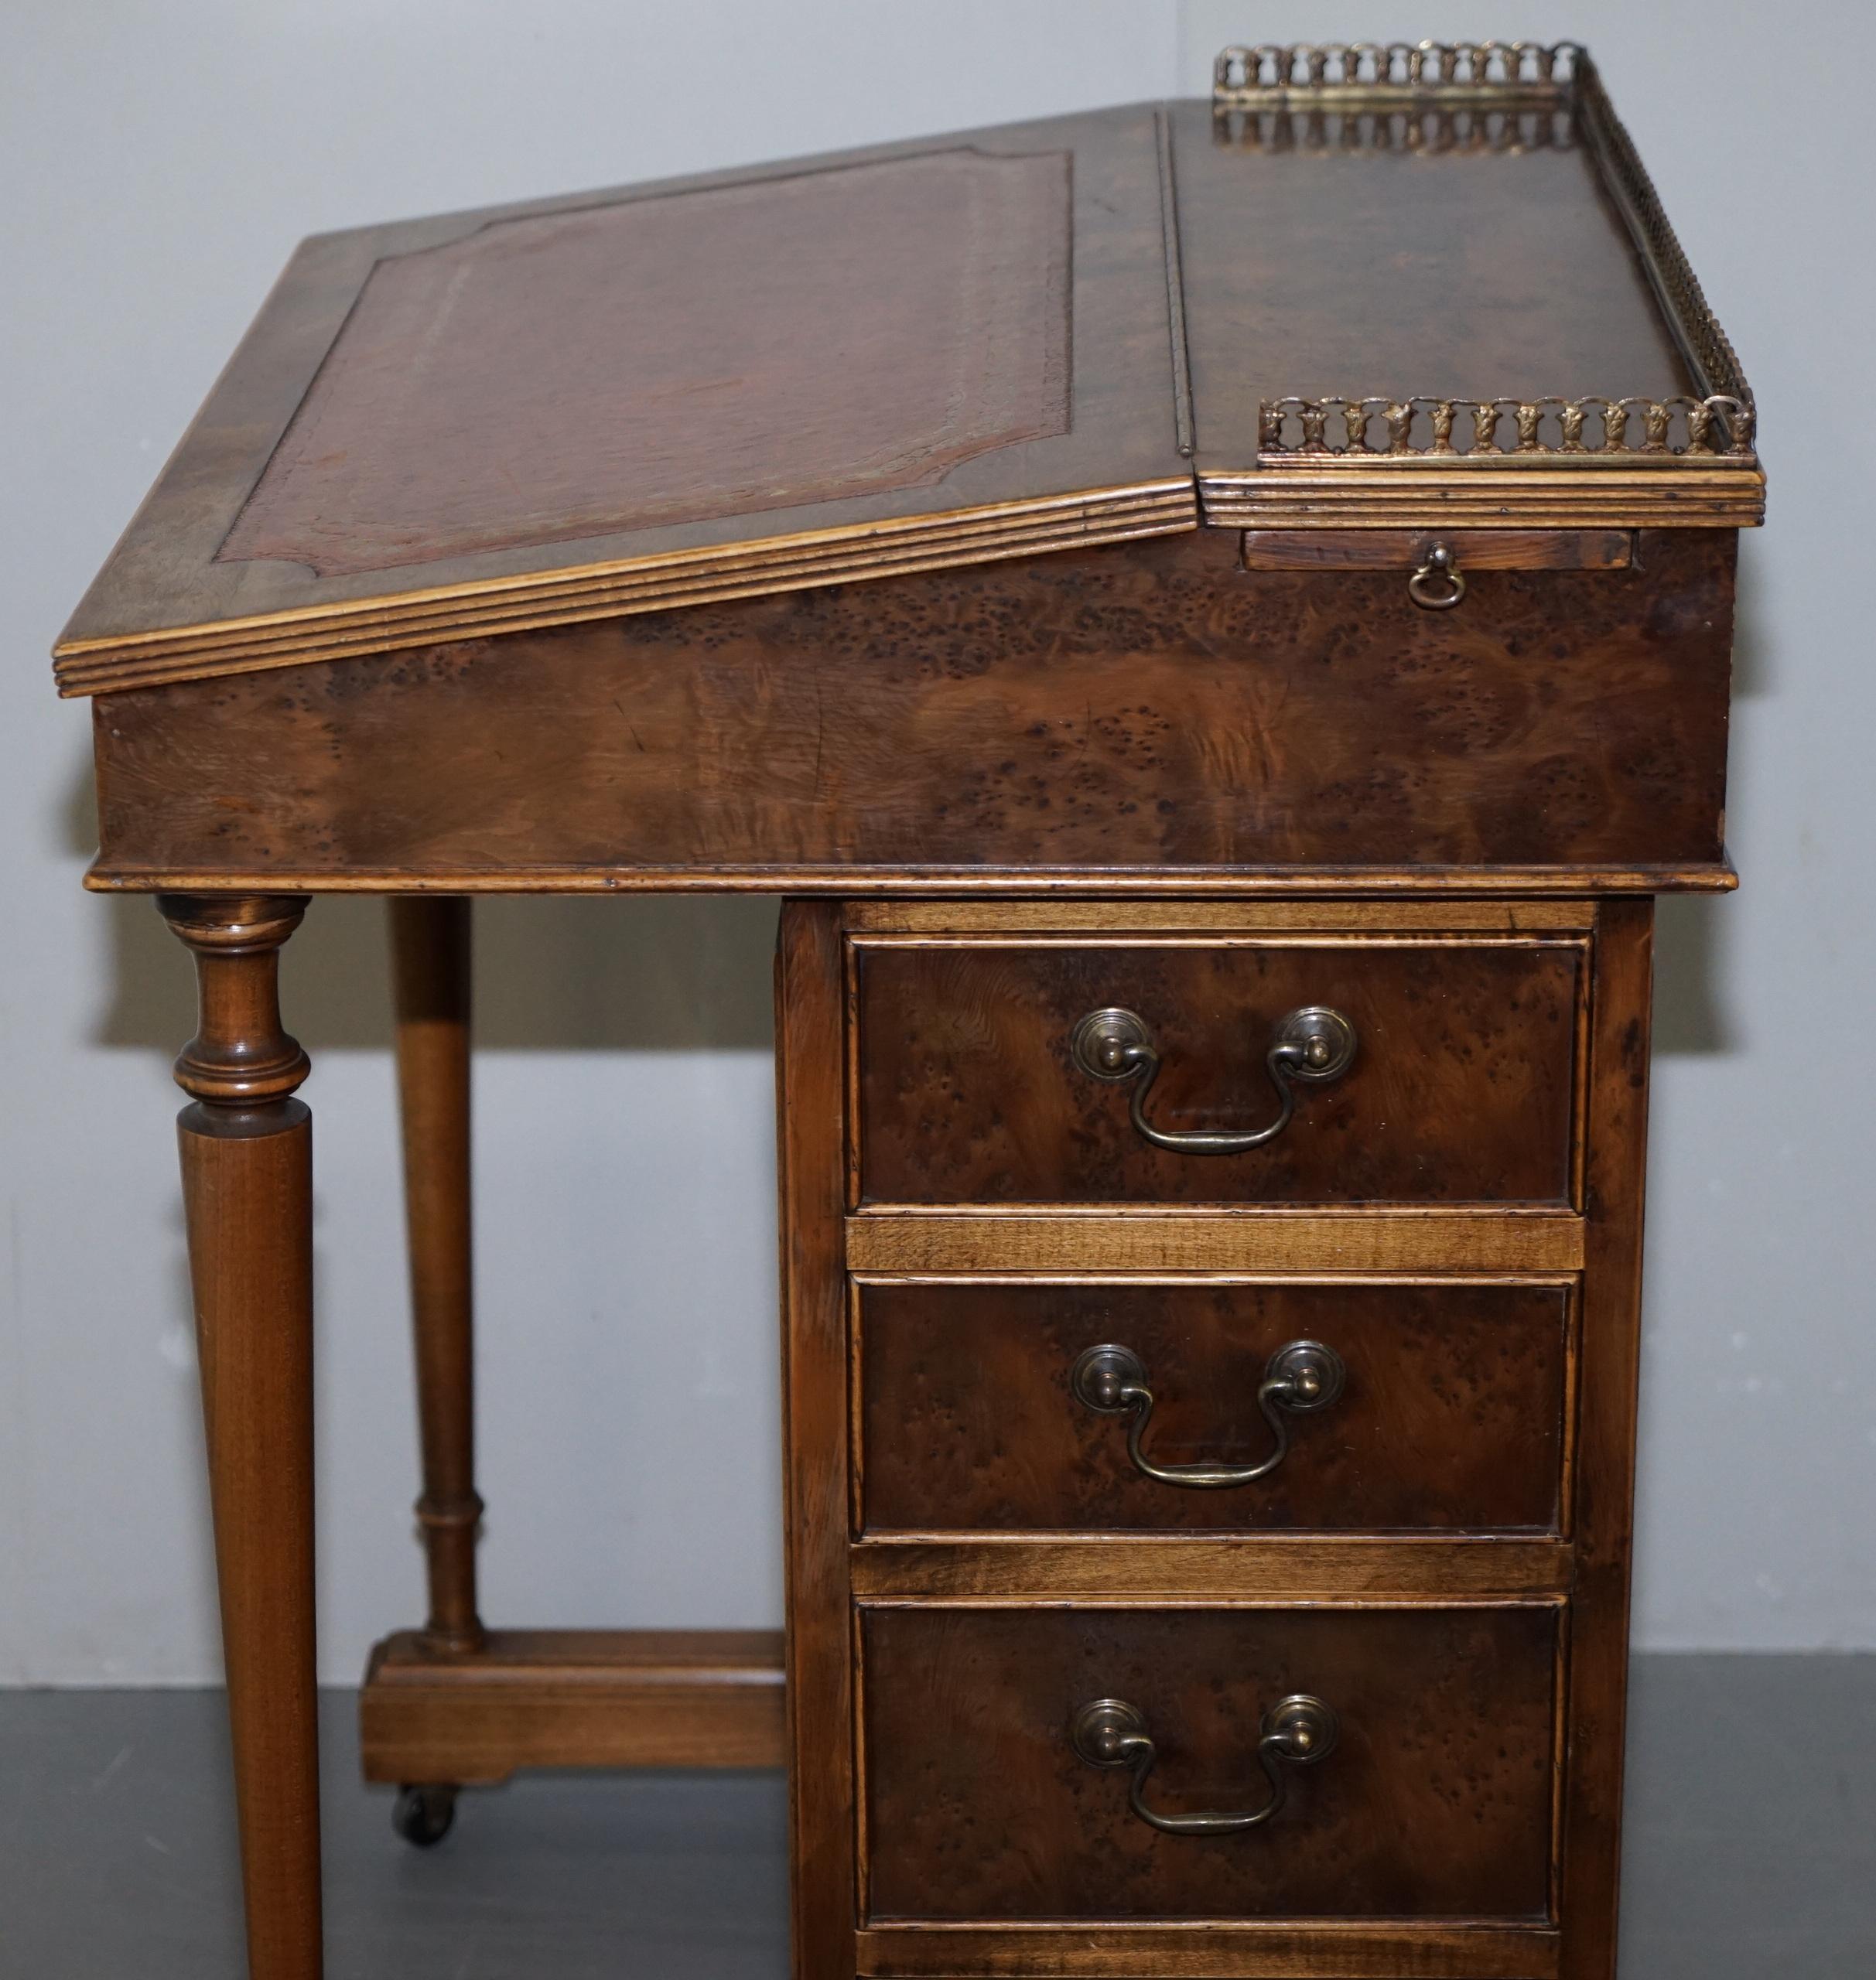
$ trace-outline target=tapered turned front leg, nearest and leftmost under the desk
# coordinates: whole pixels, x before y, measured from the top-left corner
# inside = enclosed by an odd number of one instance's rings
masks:
[[[252,1980],[319,1980],[313,1665],[313,1123],[279,1024],[305,901],[164,895],[198,1032],[178,1119]]]

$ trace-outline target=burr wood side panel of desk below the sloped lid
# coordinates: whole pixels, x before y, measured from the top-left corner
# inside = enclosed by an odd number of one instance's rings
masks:
[[[135,689],[97,881],[1662,885],[1723,871],[1733,543],[1424,612],[1199,531]]]

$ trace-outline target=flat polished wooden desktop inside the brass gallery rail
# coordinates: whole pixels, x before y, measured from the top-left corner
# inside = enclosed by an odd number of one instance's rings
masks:
[[[1200,473],[1256,463],[1266,398],[1690,388],[1589,150],[1250,148],[1171,115]]]

